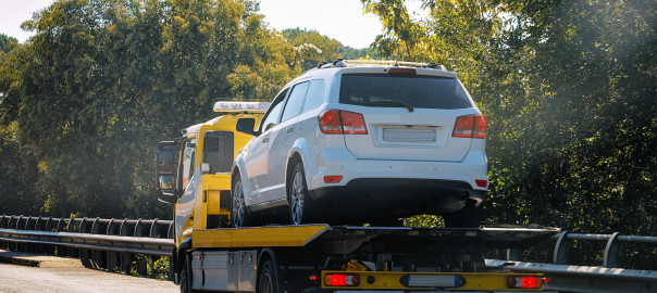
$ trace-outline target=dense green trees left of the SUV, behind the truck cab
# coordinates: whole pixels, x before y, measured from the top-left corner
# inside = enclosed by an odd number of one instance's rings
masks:
[[[262,20],[247,0],[70,0],[25,22],[25,44],[1,35],[0,214],[170,217],[158,141],[216,100],[274,97],[315,58],[299,47],[344,48]]]

